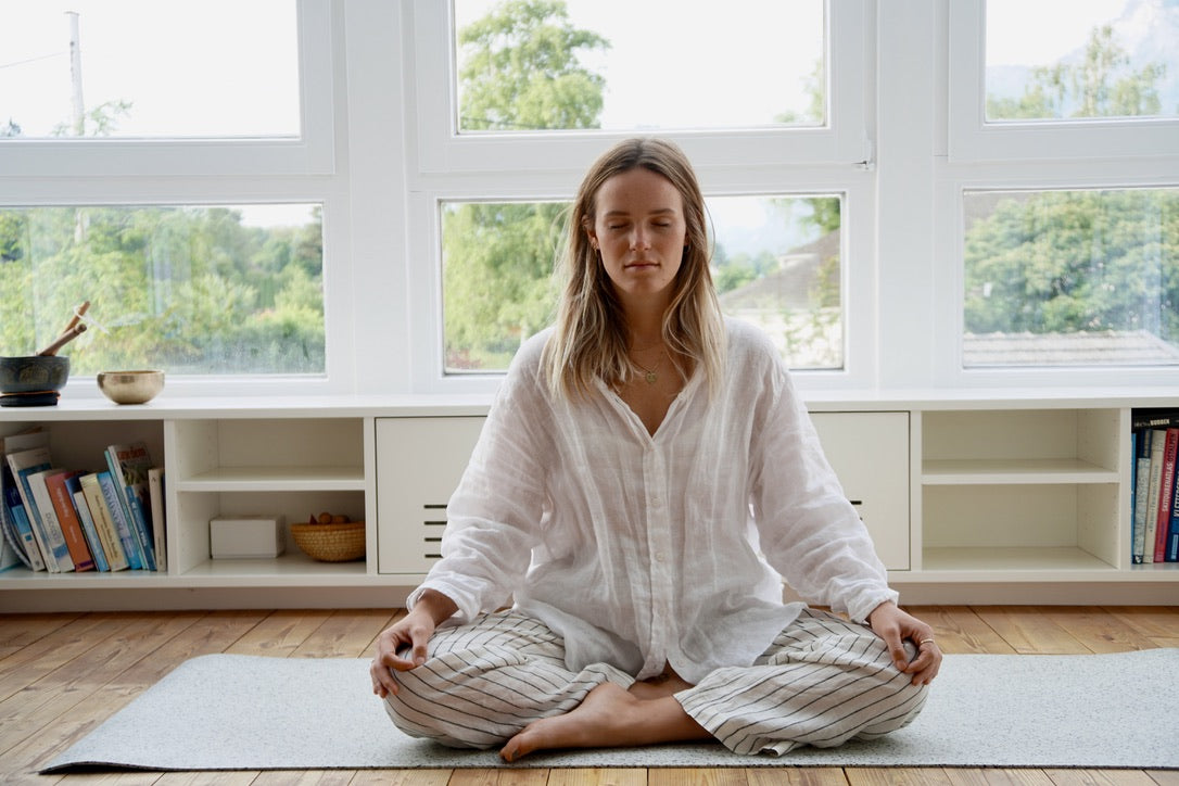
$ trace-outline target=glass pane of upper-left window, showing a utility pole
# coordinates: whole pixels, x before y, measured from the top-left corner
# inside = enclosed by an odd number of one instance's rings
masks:
[[[296,11],[295,0],[6,0],[0,138],[297,137]]]

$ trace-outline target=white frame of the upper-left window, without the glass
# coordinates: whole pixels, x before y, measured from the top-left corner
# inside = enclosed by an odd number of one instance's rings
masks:
[[[332,12],[327,0],[297,1],[298,137],[6,139],[0,143],[0,172],[17,177],[331,174]]]

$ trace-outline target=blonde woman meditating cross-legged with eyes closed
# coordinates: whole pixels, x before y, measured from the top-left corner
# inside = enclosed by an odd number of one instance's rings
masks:
[[[921,711],[933,632],[896,606],[790,375],[722,317],[707,263],[677,146],[631,139],[591,167],[556,324],[516,354],[442,559],[378,640],[373,689],[407,734],[507,761],[780,754]],[[783,580],[843,614],[784,603]]]

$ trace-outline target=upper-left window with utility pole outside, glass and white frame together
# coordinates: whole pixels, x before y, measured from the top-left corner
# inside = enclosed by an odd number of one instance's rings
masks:
[[[0,171],[327,174],[330,7],[320,0],[0,5]]]

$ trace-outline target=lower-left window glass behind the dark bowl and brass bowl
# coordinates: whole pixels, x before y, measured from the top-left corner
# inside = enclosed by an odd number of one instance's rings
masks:
[[[324,372],[320,205],[0,209],[0,355],[83,300],[71,372]]]

